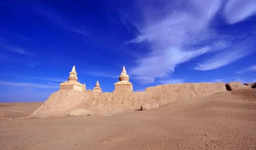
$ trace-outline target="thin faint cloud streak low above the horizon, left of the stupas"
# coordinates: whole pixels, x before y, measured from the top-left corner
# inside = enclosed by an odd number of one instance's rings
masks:
[[[15,86],[15,87],[31,87],[31,88],[58,88],[56,85],[45,85],[36,83],[26,83],[26,82],[9,82],[0,81],[1,86]]]

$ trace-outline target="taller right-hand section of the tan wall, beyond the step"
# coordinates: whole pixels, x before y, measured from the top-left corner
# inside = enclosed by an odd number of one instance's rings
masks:
[[[226,91],[225,83],[179,83],[148,87],[145,89],[146,102],[165,104],[180,99],[211,95],[219,91]]]

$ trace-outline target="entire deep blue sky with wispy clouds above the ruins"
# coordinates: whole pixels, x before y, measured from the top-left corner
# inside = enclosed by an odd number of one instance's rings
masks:
[[[1,0],[0,102],[43,101],[72,65],[112,91],[256,81],[255,0]]]

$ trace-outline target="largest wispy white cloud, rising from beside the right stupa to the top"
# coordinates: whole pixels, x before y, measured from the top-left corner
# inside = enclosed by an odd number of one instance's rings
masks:
[[[131,73],[141,83],[151,83],[157,77],[172,73],[177,64],[211,51],[215,43],[192,45],[213,36],[208,24],[220,5],[221,0],[190,0],[184,9],[167,11],[164,16],[145,15],[145,21],[137,28],[140,34],[128,42],[147,41],[151,45],[150,52],[137,60]]]

